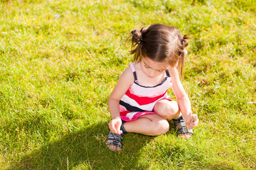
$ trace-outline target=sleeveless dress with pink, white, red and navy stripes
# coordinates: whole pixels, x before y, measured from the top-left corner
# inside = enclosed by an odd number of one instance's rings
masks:
[[[138,83],[133,63],[130,63],[134,75],[134,83],[122,96],[119,102],[121,119],[124,121],[136,120],[143,114],[155,113],[154,107],[159,100],[171,100],[167,95],[168,88],[172,87],[171,76],[166,70],[166,78],[155,86],[142,86]]]

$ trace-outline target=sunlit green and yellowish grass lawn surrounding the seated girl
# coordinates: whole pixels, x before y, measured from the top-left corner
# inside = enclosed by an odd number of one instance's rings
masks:
[[[256,169],[255,6],[0,0],[0,169]],[[171,124],[111,152],[108,97],[132,61],[124,42],[153,23],[191,36],[182,81],[200,123],[192,139]]]

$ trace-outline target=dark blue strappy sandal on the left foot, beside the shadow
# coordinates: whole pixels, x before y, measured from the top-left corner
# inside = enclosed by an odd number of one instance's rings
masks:
[[[123,125],[121,125],[120,130],[123,131],[123,133],[121,135],[115,134],[115,133],[112,133],[112,131],[109,131],[109,135],[106,139],[106,145],[108,147],[109,147],[109,145],[113,145],[113,146],[121,148],[121,150],[122,150],[123,135],[127,134],[127,131],[125,130],[125,128],[123,128]],[[112,150],[112,148],[110,148],[110,150]],[[114,150],[112,150],[112,151],[114,151]]]

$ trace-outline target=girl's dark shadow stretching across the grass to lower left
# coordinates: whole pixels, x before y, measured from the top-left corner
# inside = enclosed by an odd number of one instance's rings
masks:
[[[105,140],[108,125],[104,122],[65,135],[24,155],[9,169],[147,169],[141,164],[141,149],[154,139],[141,134],[129,133],[124,137],[121,152],[110,151]]]

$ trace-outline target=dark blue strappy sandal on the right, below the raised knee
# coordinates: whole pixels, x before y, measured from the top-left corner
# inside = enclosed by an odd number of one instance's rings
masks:
[[[192,133],[190,137],[193,135],[193,130],[187,128],[187,125],[185,124],[183,116],[180,116],[180,118],[177,118],[177,119],[172,119],[172,121],[174,122],[174,125],[176,126],[176,129],[177,129],[176,131],[177,137],[180,137],[181,134],[187,134],[187,133]]]

